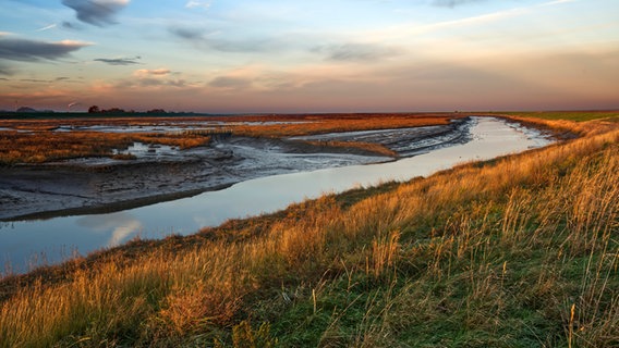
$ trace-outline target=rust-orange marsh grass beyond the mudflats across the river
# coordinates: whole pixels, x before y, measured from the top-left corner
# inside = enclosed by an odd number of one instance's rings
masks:
[[[60,125],[74,127],[107,126],[204,126],[205,122],[215,128],[226,128],[236,135],[253,137],[286,137],[329,132],[364,130],[380,128],[415,127],[449,123],[451,115],[420,114],[325,114],[325,115],[279,115],[279,116],[229,116],[229,117],[128,117],[128,119],[71,119],[71,120],[0,120],[0,127],[15,130],[0,130],[0,164],[44,163],[58,160],[113,157],[113,150],[126,149],[133,142],[159,144],[187,149],[206,146],[208,134],[183,133],[102,133],[102,132],[54,132]],[[265,122],[268,122],[265,124]],[[330,142],[323,146],[361,148],[371,152],[395,156],[393,151],[362,142]]]

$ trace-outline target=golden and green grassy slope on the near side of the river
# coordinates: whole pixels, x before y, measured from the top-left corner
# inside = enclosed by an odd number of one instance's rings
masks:
[[[43,272],[0,347],[619,345],[619,132],[561,126],[588,133]]]

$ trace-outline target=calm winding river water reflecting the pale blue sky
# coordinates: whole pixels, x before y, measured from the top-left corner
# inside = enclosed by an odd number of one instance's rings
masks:
[[[325,192],[340,192],[387,181],[427,176],[454,164],[491,159],[548,145],[538,132],[496,119],[478,117],[473,140],[396,162],[353,165],[246,181],[219,191],[110,214],[0,223],[2,273],[58,263],[75,252],[118,246],[139,236],[192,234],[228,219],[274,212]]]

